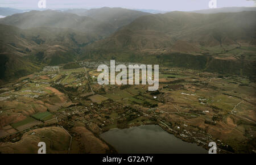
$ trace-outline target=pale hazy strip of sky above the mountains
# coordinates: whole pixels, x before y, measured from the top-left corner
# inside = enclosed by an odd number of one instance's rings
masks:
[[[0,0],[0,7],[38,9],[40,0]],[[210,0],[46,0],[47,9],[123,7],[128,9],[154,9],[191,11],[209,9]],[[217,8],[255,6],[255,0],[216,0]]]

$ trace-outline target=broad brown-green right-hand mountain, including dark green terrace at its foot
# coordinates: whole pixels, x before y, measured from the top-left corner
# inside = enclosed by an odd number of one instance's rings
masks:
[[[251,74],[255,69],[255,16],[255,11],[146,15],[85,46],[84,58]]]

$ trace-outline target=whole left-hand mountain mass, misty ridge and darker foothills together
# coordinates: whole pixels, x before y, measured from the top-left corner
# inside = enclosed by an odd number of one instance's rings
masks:
[[[75,61],[82,53],[82,46],[109,36],[119,26],[128,24],[139,14],[143,14],[139,11],[131,14],[133,11],[126,9],[113,9],[112,13],[110,8],[99,9],[98,15],[94,10],[88,12],[96,17],[105,15],[108,20],[103,22],[77,15],[85,11],[30,11],[0,19],[0,77],[19,77],[32,73],[42,64],[57,65]],[[110,19],[114,20],[112,16],[118,16],[116,18],[119,22],[112,22],[116,27],[109,23]]]

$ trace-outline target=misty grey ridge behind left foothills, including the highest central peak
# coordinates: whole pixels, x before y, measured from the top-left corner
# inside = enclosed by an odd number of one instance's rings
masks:
[[[77,31],[100,33],[108,36],[116,29],[150,13],[136,10],[102,7],[101,9],[70,9],[65,11],[44,10],[14,14],[0,19],[0,23],[19,28],[57,27]]]

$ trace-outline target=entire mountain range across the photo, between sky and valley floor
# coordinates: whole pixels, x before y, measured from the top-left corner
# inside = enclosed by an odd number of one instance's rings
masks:
[[[233,9],[237,10],[247,8]],[[7,16],[0,19],[0,78],[84,59],[251,74],[255,69],[256,12],[215,11],[220,13],[149,14],[103,7]]]

